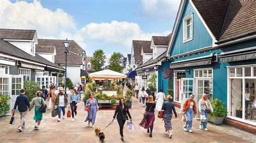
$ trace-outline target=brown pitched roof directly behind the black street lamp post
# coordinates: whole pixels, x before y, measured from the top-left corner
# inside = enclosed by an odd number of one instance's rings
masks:
[[[53,39],[38,39],[38,45],[55,46],[56,56],[55,63],[65,64],[65,46],[64,40],[53,40]],[[75,41],[69,40],[69,53],[67,55],[68,65],[82,65],[83,51],[84,49],[80,47]],[[74,54],[76,53],[76,54]],[[82,56],[81,56],[82,54]]]

